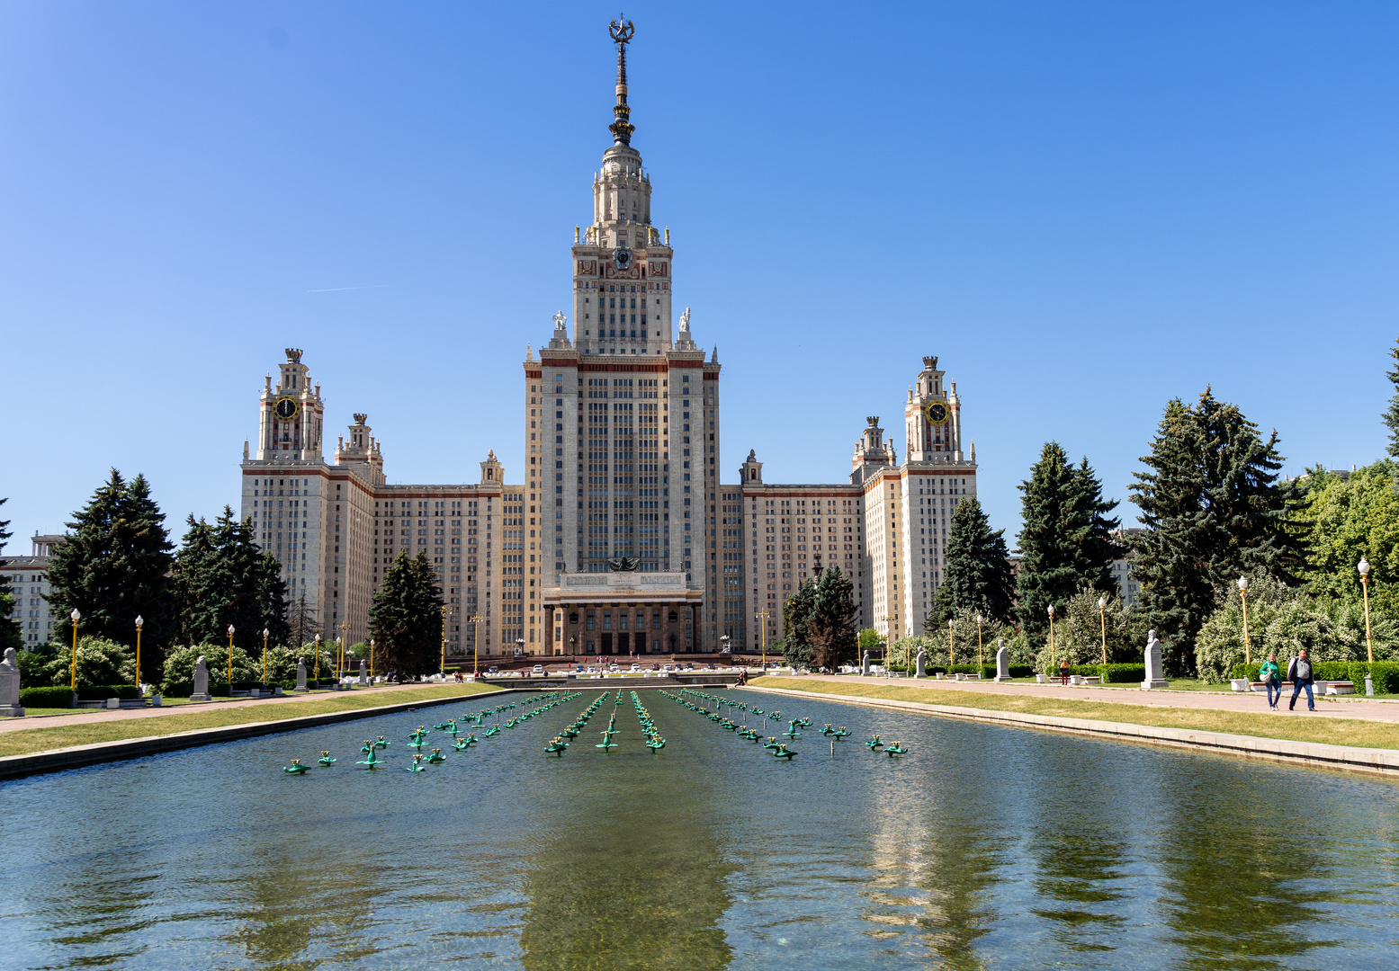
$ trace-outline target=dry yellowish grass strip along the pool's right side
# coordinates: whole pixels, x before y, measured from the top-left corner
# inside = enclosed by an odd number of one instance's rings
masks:
[[[795,678],[754,678],[757,687],[785,687],[795,692],[821,692],[851,697],[888,699],[891,701],[922,701],[957,708],[982,711],[1016,711],[1027,715],[1055,718],[1087,718],[1116,721],[1128,725],[1154,725],[1199,732],[1226,732],[1254,738],[1286,739],[1288,742],[1318,742],[1322,745],[1350,745],[1363,749],[1399,749],[1399,724],[1364,721],[1360,718],[1308,718],[1305,715],[1252,714],[1220,711],[1217,708],[1161,708],[1118,701],[1074,701],[1030,694],[989,694],[949,692],[946,689],[870,685],[844,680],[804,680]]]

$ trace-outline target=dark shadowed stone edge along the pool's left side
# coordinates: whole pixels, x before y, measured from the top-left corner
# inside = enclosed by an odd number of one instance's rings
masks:
[[[276,735],[278,732],[294,732],[301,728],[318,728],[333,725],[341,721],[358,721],[361,718],[376,718],[392,715],[399,711],[413,708],[431,708],[439,704],[457,704],[464,699],[499,697],[501,694],[515,694],[536,692],[529,689],[506,687],[495,692],[477,692],[474,694],[460,694],[445,699],[427,699],[420,701],[399,701],[374,708],[354,708],[351,711],[326,711],[319,715],[301,715],[298,718],[283,718],[280,721],[253,721],[245,725],[218,725],[215,728],[196,728],[189,732],[175,732],[172,735],[151,735],[147,738],[118,739],[115,742],[95,742],[92,745],[74,745],[67,749],[49,749],[46,752],[29,752],[22,756],[0,756],[0,781],[24,778],[25,775],[41,775],[57,773],[66,768],[85,768],[108,761],[123,761],[126,759],[140,759],[141,756],[159,754],[162,752],[178,752],[179,749],[193,749],[200,745],[215,745],[218,742],[236,742],[259,735]]]

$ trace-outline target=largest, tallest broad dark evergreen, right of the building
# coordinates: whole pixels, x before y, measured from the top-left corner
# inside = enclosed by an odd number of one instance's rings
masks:
[[[1295,521],[1302,495],[1295,483],[1279,482],[1277,432],[1265,441],[1210,388],[1193,408],[1167,404],[1142,462],[1150,471],[1135,472],[1132,485],[1146,527],[1132,543],[1140,609],[1171,641],[1168,666],[1188,672],[1217,588],[1254,570],[1294,583],[1304,563],[1305,525]]]

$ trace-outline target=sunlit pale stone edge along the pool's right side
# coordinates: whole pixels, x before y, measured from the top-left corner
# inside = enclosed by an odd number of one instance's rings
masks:
[[[992,711],[988,708],[961,708],[926,701],[898,701],[894,699],[870,699],[858,694],[828,694],[825,692],[802,692],[789,687],[757,687],[746,685],[744,692],[783,694],[788,697],[814,697],[823,701],[859,704],[869,708],[890,708],[918,714],[981,721],[1013,728],[1038,728],[1051,732],[1108,738],[1119,742],[1143,742],[1174,749],[1195,749],[1219,754],[1267,759],[1290,766],[1312,768],[1343,768],[1370,773],[1372,775],[1399,777],[1399,750],[1361,749],[1349,745],[1323,745],[1318,742],[1291,742],[1288,739],[1260,738],[1255,735],[1231,735],[1227,732],[1196,732],[1185,728],[1164,728],[1157,725],[1133,725],[1119,721],[1095,721],[1090,718],[1060,718],[1056,715],[1031,715],[1018,711]]]

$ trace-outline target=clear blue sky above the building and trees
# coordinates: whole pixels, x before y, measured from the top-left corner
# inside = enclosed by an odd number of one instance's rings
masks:
[[[0,4],[7,552],[111,467],[182,531],[236,503],[305,349],[393,482],[520,481],[525,344],[569,303],[610,144],[613,6]],[[722,465],[902,458],[936,353],[1018,528],[1044,441],[1126,499],[1207,384],[1287,471],[1384,454],[1399,6],[630,6],[632,144],[676,312],[725,365]],[[327,448],[327,455],[330,448]],[[1135,507],[1123,504],[1125,518]]]

